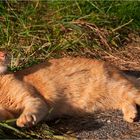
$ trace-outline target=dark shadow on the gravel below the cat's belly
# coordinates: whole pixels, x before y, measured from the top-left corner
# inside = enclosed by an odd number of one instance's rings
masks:
[[[62,133],[79,133],[83,131],[97,131],[104,124],[95,119],[94,115],[83,117],[63,116],[46,122],[51,128]]]

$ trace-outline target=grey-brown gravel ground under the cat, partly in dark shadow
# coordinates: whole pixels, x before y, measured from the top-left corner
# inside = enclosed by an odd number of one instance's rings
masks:
[[[139,108],[140,112],[140,108]],[[83,118],[66,117],[49,126],[77,139],[139,139],[140,116],[137,122],[123,121],[120,111],[96,112]]]

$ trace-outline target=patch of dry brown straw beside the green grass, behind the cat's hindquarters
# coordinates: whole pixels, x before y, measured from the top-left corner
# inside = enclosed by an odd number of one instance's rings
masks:
[[[114,52],[105,53],[101,58],[121,70],[140,71],[140,36],[130,35],[131,43],[127,43]],[[133,74],[134,74],[133,73]]]

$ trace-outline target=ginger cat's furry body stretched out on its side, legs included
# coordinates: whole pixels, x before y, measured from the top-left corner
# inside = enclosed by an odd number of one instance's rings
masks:
[[[52,59],[0,76],[0,119],[18,118],[20,127],[63,114],[120,109],[133,122],[140,91],[109,64],[87,58]]]

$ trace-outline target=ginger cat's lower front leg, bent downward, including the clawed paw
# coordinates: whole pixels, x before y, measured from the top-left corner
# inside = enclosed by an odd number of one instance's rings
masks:
[[[47,112],[47,104],[42,99],[27,99],[23,113],[17,119],[16,124],[19,127],[31,127],[41,121]]]

